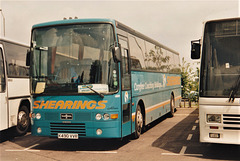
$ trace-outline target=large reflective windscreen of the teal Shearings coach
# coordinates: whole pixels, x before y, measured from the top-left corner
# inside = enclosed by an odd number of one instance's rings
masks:
[[[113,43],[113,30],[109,24],[34,30],[33,92],[91,92],[82,90],[84,85],[105,93],[116,91]]]

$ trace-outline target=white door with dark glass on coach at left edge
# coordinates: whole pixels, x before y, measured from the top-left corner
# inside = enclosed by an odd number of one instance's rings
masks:
[[[6,71],[4,64],[3,46],[0,44],[0,130],[8,128]]]

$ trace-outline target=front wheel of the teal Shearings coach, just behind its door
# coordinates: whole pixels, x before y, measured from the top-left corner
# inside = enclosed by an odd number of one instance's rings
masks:
[[[134,133],[135,139],[138,139],[140,137],[142,128],[143,128],[143,115],[142,115],[140,106],[137,105],[136,115],[135,115],[135,133]]]

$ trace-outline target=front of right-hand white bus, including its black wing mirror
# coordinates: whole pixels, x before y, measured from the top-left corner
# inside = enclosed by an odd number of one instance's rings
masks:
[[[240,144],[240,18],[207,22],[201,57],[200,142]]]

